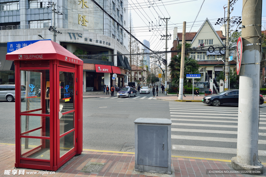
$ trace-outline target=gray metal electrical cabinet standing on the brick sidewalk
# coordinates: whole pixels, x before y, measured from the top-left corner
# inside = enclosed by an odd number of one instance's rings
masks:
[[[171,174],[171,120],[138,118],[135,123],[135,170]]]

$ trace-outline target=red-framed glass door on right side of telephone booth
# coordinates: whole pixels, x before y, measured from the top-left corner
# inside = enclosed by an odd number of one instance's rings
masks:
[[[57,159],[65,163],[65,159],[76,152],[76,70],[58,67],[57,85],[59,85],[59,97],[57,97]]]

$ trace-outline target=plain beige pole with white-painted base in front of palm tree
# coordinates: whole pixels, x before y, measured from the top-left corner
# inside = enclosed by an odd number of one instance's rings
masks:
[[[180,79],[179,79],[179,96],[178,100],[183,100],[183,85],[184,85],[184,63],[185,63],[185,44],[186,44],[186,22],[183,22],[182,34],[182,48],[181,48],[181,66],[180,66]]]

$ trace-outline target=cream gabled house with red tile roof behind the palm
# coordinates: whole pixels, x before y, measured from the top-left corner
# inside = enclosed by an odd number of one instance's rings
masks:
[[[186,42],[192,45],[189,56],[196,59],[200,65],[200,74],[203,76],[201,82],[209,82],[209,78],[215,79],[220,71],[224,71],[225,51],[223,47],[225,46],[226,37],[223,34],[223,31],[225,31],[223,28],[221,27],[220,31],[215,31],[208,18],[206,18],[198,32],[186,32]],[[178,33],[177,28],[174,28],[173,34],[172,51],[176,50],[177,45],[182,42],[182,33]],[[171,57],[173,57],[177,53],[171,54]],[[230,62],[232,71],[235,65],[235,61]]]

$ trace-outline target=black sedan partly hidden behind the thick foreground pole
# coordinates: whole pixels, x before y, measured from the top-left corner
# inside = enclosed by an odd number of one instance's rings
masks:
[[[213,105],[238,105],[239,90],[226,90],[214,95],[208,95],[203,97],[202,102]],[[264,99],[260,94],[260,104],[263,104]]]

